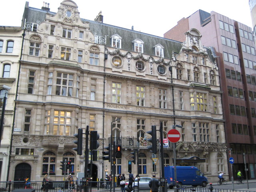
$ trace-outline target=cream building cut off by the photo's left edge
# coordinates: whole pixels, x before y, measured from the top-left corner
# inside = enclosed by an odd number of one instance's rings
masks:
[[[17,77],[22,44],[21,27],[0,26],[0,108],[3,117],[0,146],[0,180],[6,181],[10,166],[10,146],[15,113]],[[6,96],[5,107],[3,107]],[[4,112],[4,113],[3,113]],[[2,116],[3,114],[3,116]]]

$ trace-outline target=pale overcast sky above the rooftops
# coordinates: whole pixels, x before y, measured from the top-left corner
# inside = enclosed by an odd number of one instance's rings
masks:
[[[41,9],[43,0],[27,0]],[[62,0],[45,0],[57,12]],[[215,11],[252,28],[249,0],[74,0],[80,18],[94,20],[102,11],[103,22],[163,37],[183,17],[201,9]],[[0,26],[20,26],[26,0],[1,0]]]

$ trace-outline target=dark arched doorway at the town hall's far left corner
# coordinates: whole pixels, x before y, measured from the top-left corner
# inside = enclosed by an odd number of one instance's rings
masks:
[[[14,181],[24,181],[26,177],[31,176],[31,166],[27,163],[20,163],[15,167]],[[31,178],[30,178],[31,180]]]

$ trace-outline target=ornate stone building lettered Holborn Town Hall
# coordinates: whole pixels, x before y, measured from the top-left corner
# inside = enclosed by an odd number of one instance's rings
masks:
[[[164,138],[172,125],[182,126],[177,165],[198,166],[210,181],[218,171],[227,172],[218,67],[198,30],[177,42],[104,24],[101,13],[95,21],[81,19],[71,0],[64,0],[57,13],[27,2],[22,26],[26,36],[9,179],[42,180],[48,173],[62,180],[62,160],[72,162],[68,173],[84,172],[84,156],[76,155],[72,141],[87,125],[100,135],[98,160],[88,166],[94,180],[110,174],[102,150],[111,131],[122,145],[117,174],[131,169],[135,175],[160,176],[160,161],[154,166],[146,148],[146,132],[152,125],[159,130],[160,122]],[[134,148],[138,170],[129,164]],[[163,158],[164,166],[173,165],[170,143]]]

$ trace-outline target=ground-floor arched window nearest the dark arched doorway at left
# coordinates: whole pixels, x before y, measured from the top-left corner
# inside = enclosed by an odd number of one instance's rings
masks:
[[[55,175],[56,155],[54,152],[48,151],[43,154],[42,175]]]

